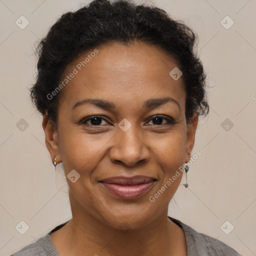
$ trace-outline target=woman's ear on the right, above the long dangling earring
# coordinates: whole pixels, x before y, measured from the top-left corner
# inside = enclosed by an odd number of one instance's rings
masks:
[[[194,138],[195,138],[197,123],[198,123],[198,115],[196,112],[194,112],[192,119],[187,125],[185,162],[188,162],[190,159],[190,157],[188,156],[188,153],[189,154],[191,153],[194,146]]]

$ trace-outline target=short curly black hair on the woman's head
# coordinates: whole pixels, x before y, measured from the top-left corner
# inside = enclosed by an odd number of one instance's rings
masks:
[[[156,45],[175,57],[186,89],[186,122],[194,112],[207,115],[206,75],[195,52],[196,33],[163,9],[131,0],[93,0],[88,5],[66,12],[39,42],[36,81],[30,98],[37,110],[57,127],[58,98],[47,95],[59,84],[65,68],[85,51],[109,42],[128,44],[141,41]]]

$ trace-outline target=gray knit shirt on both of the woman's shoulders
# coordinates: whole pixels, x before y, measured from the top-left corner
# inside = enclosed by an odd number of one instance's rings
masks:
[[[169,216],[168,218],[183,229],[186,238],[187,256],[241,256],[241,254],[220,240],[198,233],[175,218]],[[51,241],[50,234],[65,223],[56,226],[36,242],[23,247],[10,256],[60,256]]]

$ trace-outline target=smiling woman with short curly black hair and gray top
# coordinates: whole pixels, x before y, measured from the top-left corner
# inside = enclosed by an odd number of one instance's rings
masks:
[[[125,0],[94,0],[50,28],[30,92],[72,219],[14,256],[239,255],[167,216],[208,113],[195,39],[163,10]]]

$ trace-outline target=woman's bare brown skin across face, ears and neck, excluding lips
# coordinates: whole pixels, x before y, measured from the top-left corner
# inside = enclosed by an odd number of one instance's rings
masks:
[[[97,47],[99,52],[61,89],[57,130],[43,116],[45,143],[53,161],[63,163],[65,175],[75,169],[80,177],[67,178],[72,219],[51,234],[61,256],[65,255],[161,255],[184,256],[183,230],[167,218],[168,203],[177,190],[182,172],[168,188],[149,201],[178,167],[189,160],[198,122],[197,114],[186,124],[185,87],[182,76],[169,72],[177,61],[157,46],[143,42]],[[90,51],[92,52],[93,49]],[[63,76],[90,52],[79,55]],[[150,98],[171,97],[153,108]],[[72,106],[85,98],[111,101],[103,109],[90,103]],[[174,124],[165,118],[172,117]],[[100,115],[99,125],[87,116]],[[118,123],[126,118],[131,127]],[[147,175],[157,179],[151,189],[136,199],[120,199],[98,181],[113,176]]]

